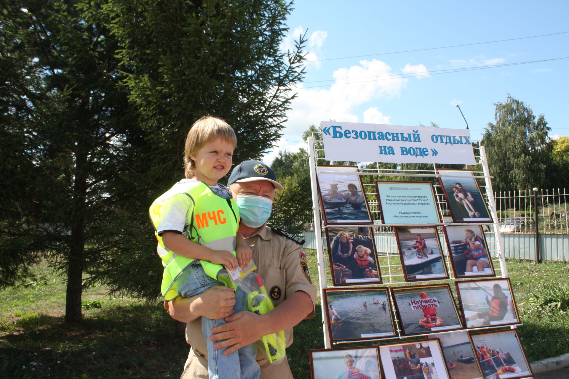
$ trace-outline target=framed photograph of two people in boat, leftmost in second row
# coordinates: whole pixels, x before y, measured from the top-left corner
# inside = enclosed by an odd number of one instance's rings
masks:
[[[335,286],[380,284],[376,244],[372,228],[338,226],[326,228],[328,256]]]

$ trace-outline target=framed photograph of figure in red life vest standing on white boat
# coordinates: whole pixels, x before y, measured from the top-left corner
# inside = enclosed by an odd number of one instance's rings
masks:
[[[434,226],[396,226],[395,237],[406,282],[448,279]]]

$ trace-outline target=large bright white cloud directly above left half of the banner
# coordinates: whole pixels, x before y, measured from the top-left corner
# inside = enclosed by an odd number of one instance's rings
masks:
[[[379,60],[362,60],[359,65],[339,68],[333,72],[336,82],[324,88],[304,88],[300,85],[296,90],[298,97],[291,103],[287,112],[287,135],[302,135],[310,124],[318,125],[321,121],[336,120],[341,122],[358,122],[360,117],[354,114],[354,107],[377,99],[398,97],[406,87],[409,79],[393,75],[391,67]],[[349,83],[349,84],[348,84]],[[315,84],[308,83],[311,87]],[[389,122],[389,116],[380,111],[370,111],[364,119],[372,118]],[[387,122],[386,122],[387,120]]]

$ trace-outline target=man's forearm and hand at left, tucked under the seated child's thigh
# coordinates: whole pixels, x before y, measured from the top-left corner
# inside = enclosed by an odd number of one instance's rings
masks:
[[[164,302],[164,309],[180,322],[191,322],[200,316],[212,320],[225,318],[233,313],[235,293],[226,286],[215,286],[192,297],[178,296]]]

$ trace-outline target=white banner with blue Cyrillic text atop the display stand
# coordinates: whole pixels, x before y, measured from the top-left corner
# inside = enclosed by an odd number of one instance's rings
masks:
[[[322,136],[329,161],[476,164],[467,129],[323,121]]]

